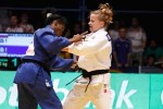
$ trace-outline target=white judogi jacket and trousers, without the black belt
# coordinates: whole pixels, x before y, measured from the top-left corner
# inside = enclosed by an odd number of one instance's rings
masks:
[[[78,66],[88,72],[111,66],[111,39],[104,28],[88,34],[84,41],[72,44],[68,52],[79,56]],[[92,75],[86,93],[89,78],[80,76],[76,81],[63,109],[84,109],[89,100],[93,102],[96,109],[111,109],[110,74]]]

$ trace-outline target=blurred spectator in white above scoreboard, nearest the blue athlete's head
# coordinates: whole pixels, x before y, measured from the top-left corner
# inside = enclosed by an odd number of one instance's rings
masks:
[[[34,33],[34,26],[28,23],[28,14],[23,13],[21,15],[20,26],[23,28],[24,33]]]

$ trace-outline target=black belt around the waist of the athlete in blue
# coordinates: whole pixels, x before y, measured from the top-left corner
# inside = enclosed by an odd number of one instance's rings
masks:
[[[22,62],[24,63],[24,62],[32,62],[32,63],[36,63],[36,64],[38,64],[38,65],[40,65],[40,66],[42,66],[43,68],[43,70],[50,75],[50,70],[47,68],[47,65],[46,64],[43,64],[42,62],[40,62],[40,61],[37,61],[37,60],[32,60],[32,59],[22,59]]]

